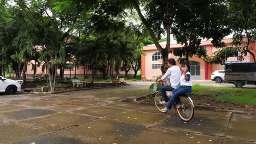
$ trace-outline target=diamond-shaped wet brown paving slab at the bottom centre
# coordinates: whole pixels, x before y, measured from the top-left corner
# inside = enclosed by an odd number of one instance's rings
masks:
[[[142,125],[97,119],[78,127],[58,130],[57,133],[94,143],[123,143],[145,129]]]

